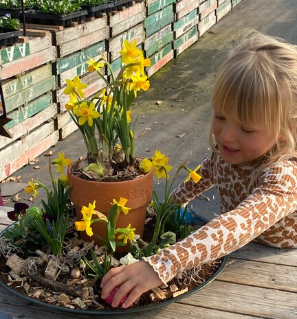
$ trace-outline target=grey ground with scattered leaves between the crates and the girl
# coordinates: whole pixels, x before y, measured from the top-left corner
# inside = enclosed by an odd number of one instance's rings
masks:
[[[151,77],[151,88],[135,99],[132,108],[134,115],[139,115],[135,134],[137,155],[149,157],[155,150],[161,150],[170,156],[173,167],[189,161],[189,167],[193,168],[210,154],[207,127],[215,70],[224,52],[247,27],[297,44],[297,1],[243,0],[197,43],[155,73]],[[158,105],[157,101],[162,103]],[[53,158],[63,151],[75,160],[85,153],[85,145],[80,132],[74,132],[50,150],[54,153]],[[47,161],[43,154],[36,163],[40,169],[28,165],[13,175],[21,176],[22,182],[36,178],[48,183]],[[185,176],[186,173],[181,174],[177,182]],[[12,187],[5,183],[1,189],[9,193]],[[157,185],[156,181],[155,189],[162,193],[163,184]],[[192,205],[201,215],[211,219],[219,213],[219,200],[215,190],[205,195],[209,200],[197,199]],[[24,191],[20,191],[19,196],[30,206],[40,203],[40,198],[34,203],[29,202]],[[12,196],[4,199],[10,200],[7,206],[13,206]]]

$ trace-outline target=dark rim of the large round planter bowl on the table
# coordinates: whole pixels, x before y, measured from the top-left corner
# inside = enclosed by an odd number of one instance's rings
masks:
[[[201,222],[203,224],[206,224],[208,221],[205,220],[203,217],[199,217],[199,219],[201,220]],[[10,226],[6,227],[3,229],[3,231],[0,232],[0,237],[1,235],[3,235],[3,233],[9,229],[10,227],[12,227],[12,225],[15,224],[12,223]],[[214,274],[204,283],[202,283],[201,285],[197,286],[196,288],[190,290],[189,292],[185,292],[184,294],[181,294],[175,298],[170,298],[168,300],[163,300],[160,301],[159,303],[155,303],[152,305],[148,305],[145,307],[135,307],[135,308],[127,308],[127,309],[122,309],[122,308],[115,308],[115,309],[106,309],[106,310],[83,310],[83,309],[69,309],[66,307],[61,307],[61,306],[55,306],[55,305],[51,305],[50,303],[45,303],[43,301],[39,301],[36,300],[34,298],[30,298],[28,296],[26,296],[25,294],[22,294],[21,292],[17,292],[17,290],[13,290],[12,288],[8,287],[7,285],[5,285],[5,283],[3,283],[2,281],[0,281],[0,285],[2,287],[4,287],[6,290],[8,290],[9,292],[12,292],[13,294],[16,294],[17,296],[20,296],[21,298],[30,301],[30,303],[34,303],[36,305],[40,305],[40,306],[45,306],[45,307],[50,307],[52,309],[54,309],[55,311],[66,311],[72,314],[89,314],[89,315],[96,315],[96,316],[100,316],[100,315],[122,315],[122,314],[133,314],[136,312],[141,312],[141,311],[146,311],[146,310],[150,310],[150,309],[154,309],[154,308],[158,308],[158,307],[163,307],[165,305],[169,305],[170,303],[175,303],[176,301],[179,301],[181,299],[184,299],[192,294],[195,294],[195,292],[198,292],[199,290],[203,289],[204,287],[206,287],[206,285],[208,285],[209,283],[211,283],[214,279],[217,278],[217,276],[219,276],[219,274],[221,274],[221,272],[223,271],[223,269],[225,268],[225,265],[228,261],[228,256],[223,257],[223,260],[221,262],[221,265],[219,266],[218,270],[216,272],[214,272]]]

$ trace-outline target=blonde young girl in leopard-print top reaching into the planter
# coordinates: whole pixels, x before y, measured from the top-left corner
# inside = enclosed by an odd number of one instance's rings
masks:
[[[245,34],[217,73],[212,106],[214,152],[201,164],[203,178],[181,182],[173,197],[186,203],[215,185],[222,215],[157,255],[111,269],[102,298],[120,286],[113,307],[124,295],[129,307],[177,273],[255,238],[297,248],[297,47]]]

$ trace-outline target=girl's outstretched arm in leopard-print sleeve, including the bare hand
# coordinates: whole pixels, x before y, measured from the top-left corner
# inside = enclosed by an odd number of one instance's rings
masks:
[[[113,307],[124,295],[122,307],[129,307],[142,293],[167,283],[189,268],[213,261],[241,248],[285,215],[297,209],[297,166],[272,167],[259,179],[258,186],[236,209],[214,218],[198,231],[144,258],[133,265],[114,268],[102,279],[102,298],[120,286]],[[296,234],[295,234],[296,236]]]

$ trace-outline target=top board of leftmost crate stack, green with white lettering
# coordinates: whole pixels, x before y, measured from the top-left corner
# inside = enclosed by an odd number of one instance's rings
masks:
[[[1,49],[0,64],[25,58],[26,56],[43,51],[44,49],[49,49],[50,47],[52,47],[52,37],[50,34],[43,37],[32,38],[32,40],[29,40],[28,42],[19,43],[17,45],[12,45],[11,47]]]

